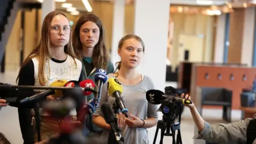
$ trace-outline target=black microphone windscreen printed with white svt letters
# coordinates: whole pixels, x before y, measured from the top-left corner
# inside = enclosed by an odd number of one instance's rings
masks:
[[[149,90],[146,92],[146,99],[148,102],[154,104],[154,105],[159,105],[161,104],[161,98],[164,92],[159,91],[159,90]]]

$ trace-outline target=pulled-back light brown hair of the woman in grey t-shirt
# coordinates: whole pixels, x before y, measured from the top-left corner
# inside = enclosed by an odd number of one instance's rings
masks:
[[[121,49],[123,47],[124,42],[127,39],[131,39],[131,38],[134,38],[134,39],[136,39],[137,41],[139,41],[141,43],[141,45],[143,47],[143,52],[144,52],[145,51],[145,44],[144,44],[144,42],[142,41],[142,39],[139,36],[133,35],[133,34],[129,34],[129,35],[126,35],[123,38],[121,38],[119,43],[118,43],[118,49]],[[121,61],[118,61],[118,62],[116,62],[116,69],[115,69],[115,71],[119,70],[120,68],[121,68]]]

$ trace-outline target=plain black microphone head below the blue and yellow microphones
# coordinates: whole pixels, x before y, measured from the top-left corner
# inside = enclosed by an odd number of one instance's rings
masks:
[[[113,122],[115,120],[113,110],[107,102],[102,103],[101,111],[107,124],[110,124],[110,122]]]

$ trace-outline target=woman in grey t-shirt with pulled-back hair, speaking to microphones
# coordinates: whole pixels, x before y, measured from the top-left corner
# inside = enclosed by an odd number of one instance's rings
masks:
[[[128,109],[129,118],[119,113],[118,124],[122,127],[124,143],[127,144],[149,144],[146,128],[157,124],[157,105],[146,100],[146,92],[154,89],[154,84],[151,78],[136,70],[144,51],[145,46],[139,36],[124,36],[118,44],[118,55],[121,57],[117,65],[118,71],[108,74],[109,78],[118,79],[123,87],[123,101]],[[108,94],[107,83],[102,87],[100,106],[94,113],[93,122],[104,130],[101,134],[102,140],[108,141],[111,127],[106,123],[101,111],[101,105],[104,102],[108,102],[110,106],[115,103],[115,98]]]

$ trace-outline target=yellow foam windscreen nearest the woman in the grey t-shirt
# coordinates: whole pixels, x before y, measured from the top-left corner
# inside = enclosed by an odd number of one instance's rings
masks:
[[[111,97],[115,97],[113,93],[116,91],[121,92],[121,94],[123,93],[123,87],[116,78],[113,78],[113,77],[108,78],[107,87],[108,87],[108,93],[110,94]]]

